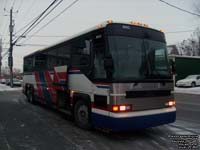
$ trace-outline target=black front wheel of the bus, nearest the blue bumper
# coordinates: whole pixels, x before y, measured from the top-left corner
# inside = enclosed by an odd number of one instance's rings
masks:
[[[89,130],[92,128],[91,118],[90,118],[91,109],[87,102],[78,101],[74,107],[74,119],[75,123],[82,129]]]

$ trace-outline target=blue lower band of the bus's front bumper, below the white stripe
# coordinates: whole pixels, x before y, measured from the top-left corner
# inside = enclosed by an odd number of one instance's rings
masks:
[[[128,131],[172,123],[176,119],[176,111],[127,118],[112,118],[92,113],[91,117],[95,127],[111,129],[112,131]]]

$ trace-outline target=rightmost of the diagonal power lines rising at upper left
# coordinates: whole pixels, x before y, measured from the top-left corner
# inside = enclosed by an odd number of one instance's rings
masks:
[[[36,32],[34,32],[28,39],[23,41],[22,43],[25,43],[28,41],[33,35],[37,34],[40,30],[45,28],[47,25],[49,25],[51,22],[53,22],[55,19],[57,19],[61,14],[63,14],[65,11],[67,11],[69,8],[71,8],[75,3],[77,3],[79,0],[75,0],[70,5],[68,5],[65,9],[63,9],[59,14],[57,14],[55,17],[53,17],[49,22],[47,22],[45,25],[43,25],[41,28],[39,28]]]

